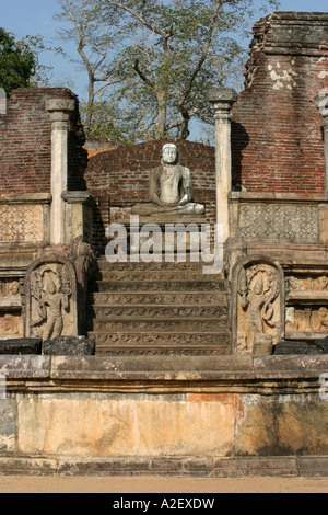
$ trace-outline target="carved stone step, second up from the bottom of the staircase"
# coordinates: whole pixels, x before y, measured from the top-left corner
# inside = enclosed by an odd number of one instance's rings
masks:
[[[163,346],[178,346],[178,347],[195,347],[202,350],[206,346],[213,346],[218,350],[230,350],[231,336],[227,331],[212,331],[212,332],[144,332],[144,331],[90,331],[89,337],[96,343],[96,350],[101,347],[115,346],[130,346],[136,350],[141,346],[148,345],[152,347]]]

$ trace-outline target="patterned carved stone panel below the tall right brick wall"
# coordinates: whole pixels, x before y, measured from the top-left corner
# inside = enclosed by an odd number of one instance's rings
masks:
[[[247,241],[271,240],[318,243],[318,206],[297,204],[241,204],[239,234]]]

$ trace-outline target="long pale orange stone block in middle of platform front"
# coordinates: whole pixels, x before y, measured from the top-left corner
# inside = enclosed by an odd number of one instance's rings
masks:
[[[153,458],[225,456],[234,438],[234,396],[186,402],[184,396],[22,398],[19,453]]]

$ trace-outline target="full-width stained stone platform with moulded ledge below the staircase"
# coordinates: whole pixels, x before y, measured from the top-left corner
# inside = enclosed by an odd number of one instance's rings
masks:
[[[328,356],[0,356],[0,473],[327,477],[327,370]]]

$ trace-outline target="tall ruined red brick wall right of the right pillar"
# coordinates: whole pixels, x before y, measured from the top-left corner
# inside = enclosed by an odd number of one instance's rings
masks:
[[[325,191],[323,117],[328,14],[279,12],[254,27],[246,87],[233,110],[233,178],[249,192]]]

